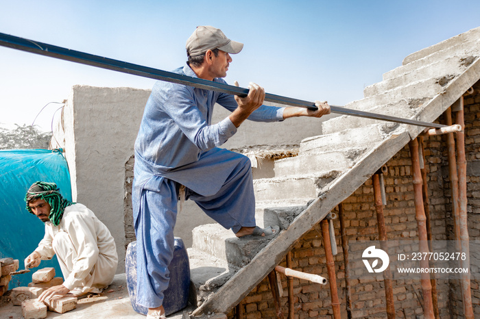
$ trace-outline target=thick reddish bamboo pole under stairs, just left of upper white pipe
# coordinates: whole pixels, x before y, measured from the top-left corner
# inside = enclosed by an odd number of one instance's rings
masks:
[[[415,201],[415,218],[418,225],[418,239],[420,242],[420,253],[429,253],[429,243],[427,238],[427,224],[425,220],[425,212],[423,210],[423,196],[422,196],[422,173],[420,173],[420,157],[418,154],[418,140],[415,138],[409,142],[411,154],[411,166],[413,170],[413,194]],[[429,260],[420,260],[420,268],[429,268]],[[433,319],[433,301],[432,301],[432,285],[430,283],[429,272],[422,272],[420,275],[420,285],[422,285],[423,303],[424,303],[424,318]]]

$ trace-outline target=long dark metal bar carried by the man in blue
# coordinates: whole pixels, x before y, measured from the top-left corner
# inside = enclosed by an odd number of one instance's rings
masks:
[[[186,75],[180,75],[177,73],[162,71],[156,68],[149,68],[147,66],[141,66],[139,64],[132,64],[132,63],[123,62],[119,60],[113,60],[110,58],[101,57],[99,55],[92,55],[89,53],[57,47],[55,45],[46,44],[43,42],[37,42],[34,40],[19,38],[17,36],[10,36],[9,34],[0,33],[0,45],[3,47],[9,47],[12,49],[49,56],[51,58],[58,58],[60,60],[67,60],[67,61],[76,62],[80,64],[97,66],[98,68],[105,68],[107,70],[118,71],[118,72],[128,73],[132,75],[139,75],[141,77],[148,77],[150,79],[158,79],[161,81],[167,81],[167,82],[172,82],[176,84],[183,84],[185,86],[193,86],[195,88],[202,88],[205,90],[213,90],[217,92],[224,92],[227,94],[235,94],[235,95],[238,95],[239,97],[246,97],[248,94],[248,88],[229,86],[227,84],[208,81],[206,79],[188,77]],[[311,110],[317,110],[317,107],[315,107],[315,103],[311,101],[292,99],[289,97],[282,97],[280,95],[275,95],[275,94],[266,93],[265,101],[280,103],[283,105],[306,107]],[[441,128],[445,126],[445,125],[440,125],[436,123],[422,122],[420,120],[398,118],[396,116],[375,114],[375,113],[363,112],[359,110],[349,110],[349,109],[346,109],[345,107],[339,107],[336,105],[331,105],[331,112],[336,114],[359,116],[363,118],[372,118],[375,120],[386,120],[389,122],[402,123],[402,124],[408,124],[408,125],[417,125],[421,127]]]

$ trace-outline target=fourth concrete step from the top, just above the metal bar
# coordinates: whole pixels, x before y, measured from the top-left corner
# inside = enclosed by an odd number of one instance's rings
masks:
[[[444,92],[443,81],[439,79],[431,78],[422,81],[416,81],[405,86],[400,86],[392,90],[388,90],[381,94],[376,94],[371,97],[365,97],[364,99],[352,101],[345,105],[350,110],[369,110],[372,107],[386,104],[397,103],[401,100],[409,99],[424,99],[432,98],[437,94]]]

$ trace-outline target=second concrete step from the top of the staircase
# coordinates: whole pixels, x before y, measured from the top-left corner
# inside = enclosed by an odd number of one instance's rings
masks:
[[[407,73],[414,72],[424,66],[432,65],[454,56],[458,56],[459,58],[466,58],[468,56],[478,56],[479,42],[480,42],[480,38],[477,38],[474,40],[469,40],[467,42],[457,43],[452,47],[448,47],[440,51],[431,51],[431,53],[427,56],[424,56],[416,60],[412,60],[408,64],[403,64],[402,66],[398,66],[397,68],[394,68],[391,71],[383,73],[383,80],[400,77]]]

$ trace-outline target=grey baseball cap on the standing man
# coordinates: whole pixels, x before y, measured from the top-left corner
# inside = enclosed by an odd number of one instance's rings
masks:
[[[209,25],[202,25],[193,31],[185,47],[189,55],[194,57],[213,49],[236,54],[243,49],[243,43],[230,40],[221,29]]]

